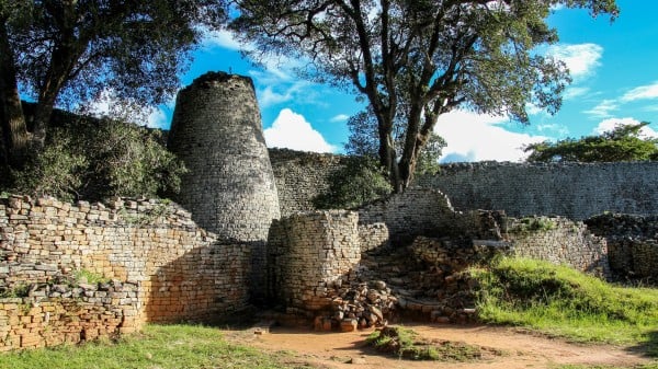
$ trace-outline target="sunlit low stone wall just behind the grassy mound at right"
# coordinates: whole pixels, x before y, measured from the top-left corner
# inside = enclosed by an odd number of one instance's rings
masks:
[[[581,222],[556,217],[510,218],[506,239],[518,256],[569,265],[601,277],[612,276],[605,239]]]

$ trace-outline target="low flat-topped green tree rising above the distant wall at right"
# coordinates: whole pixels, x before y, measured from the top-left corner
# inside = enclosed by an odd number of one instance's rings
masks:
[[[658,139],[643,138],[648,123],[617,126],[599,136],[544,141],[524,147],[529,162],[615,162],[658,160]]]

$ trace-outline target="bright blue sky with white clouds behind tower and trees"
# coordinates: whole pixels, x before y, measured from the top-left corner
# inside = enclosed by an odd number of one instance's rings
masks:
[[[560,57],[574,83],[560,112],[549,116],[530,107],[531,124],[456,111],[439,119],[447,141],[442,161],[519,161],[526,143],[599,134],[617,124],[653,122],[658,131],[658,1],[617,0],[622,12],[592,19],[587,11],[559,9],[549,18],[560,42],[547,53]],[[253,79],[270,147],[341,152],[347,118],[363,108],[355,96],[295,77],[294,61],[271,60],[254,67],[240,57],[228,34],[214,34],[195,53],[183,83],[209,70]],[[151,125],[169,127],[171,107],[151,115]],[[649,127],[651,127],[649,126]],[[646,135],[658,136],[651,128]]]

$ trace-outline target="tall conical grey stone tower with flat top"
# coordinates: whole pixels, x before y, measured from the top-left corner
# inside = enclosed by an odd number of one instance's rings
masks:
[[[181,90],[168,146],[190,171],[178,203],[224,241],[252,245],[252,286],[261,285],[264,243],[280,209],[251,79],[208,72]]]

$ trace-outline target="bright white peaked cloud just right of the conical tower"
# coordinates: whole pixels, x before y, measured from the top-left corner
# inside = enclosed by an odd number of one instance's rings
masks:
[[[264,130],[265,141],[271,148],[287,148],[302,151],[334,152],[322,135],[315,130],[306,118],[290,108],[279,113],[272,127]]]

